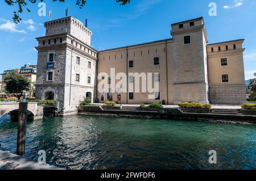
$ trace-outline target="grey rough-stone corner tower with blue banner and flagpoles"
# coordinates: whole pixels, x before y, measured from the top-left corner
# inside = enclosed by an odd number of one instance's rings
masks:
[[[97,50],[90,47],[92,31],[68,16],[44,23],[38,37],[36,99],[59,101],[64,115],[75,113],[85,98],[94,99]]]

